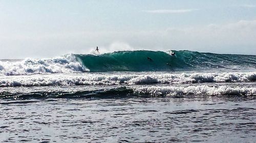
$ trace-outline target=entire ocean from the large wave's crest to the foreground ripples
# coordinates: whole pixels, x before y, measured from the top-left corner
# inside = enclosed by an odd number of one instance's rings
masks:
[[[0,60],[0,141],[255,142],[255,96],[256,55]]]

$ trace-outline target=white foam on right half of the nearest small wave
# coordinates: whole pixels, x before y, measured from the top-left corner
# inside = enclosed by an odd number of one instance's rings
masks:
[[[209,87],[207,85],[197,85],[188,87],[157,87],[157,86],[146,86],[133,88],[136,94],[146,95],[256,95],[256,88],[248,87],[228,87],[226,85],[219,87]]]

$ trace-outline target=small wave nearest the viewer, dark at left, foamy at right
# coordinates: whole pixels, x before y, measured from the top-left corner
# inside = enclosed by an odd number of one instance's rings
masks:
[[[80,88],[78,91],[61,91],[51,90],[36,91],[23,93],[0,92],[0,99],[20,100],[20,99],[52,99],[52,98],[89,98],[89,99],[104,99],[104,98],[134,98],[134,97],[175,97],[195,95],[195,96],[216,96],[216,95],[256,95],[256,88],[250,87],[232,87],[232,86],[207,86],[207,85],[193,85],[188,87],[176,86],[134,86],[134,87],[121,87],[113,89],[100,89],[100,90],[83,90]],[[9,103],[9,102],[8,102]],[[11,102],[12,103],[12,102]],[[18,102],[19,103],[19,102]],[[1,104],[1,103],[0,103]],[[2,103],[7,104],[7,103]]]

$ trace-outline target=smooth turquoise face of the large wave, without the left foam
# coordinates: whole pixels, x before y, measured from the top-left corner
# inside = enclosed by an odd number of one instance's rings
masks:
[[[75,54],[91,72],[111,71],[183,71],[210,69],[255,69],[256,55],[200,53],[180,50],[118,51],[100,55]]]

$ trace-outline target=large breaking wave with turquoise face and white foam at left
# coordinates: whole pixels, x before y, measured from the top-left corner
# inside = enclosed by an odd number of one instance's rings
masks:
[[[201,71],[218,69],[253,70],[256,55],[173,51],[118,51],[104,54],[66,54],[52,59],[0,61],[0,74],[27,75],[40,73],[113,72],[113,71]]]

